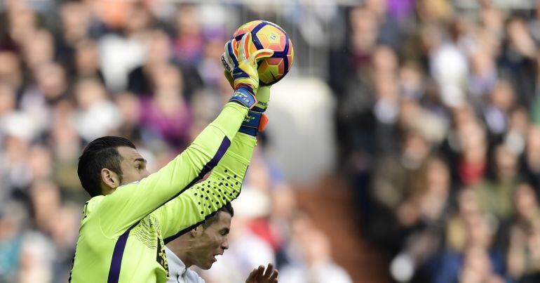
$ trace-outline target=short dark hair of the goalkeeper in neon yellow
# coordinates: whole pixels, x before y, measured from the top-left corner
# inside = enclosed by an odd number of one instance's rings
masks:
[[[101,195],[101,169],[107,168],[118,174],[122,180],[120,162],[122,157],[118,147],[126,146],[135,148],[135,145],[127,138],[116,136],[104,136],[96,138],[86,145],[83,154],[79,157],[77,174],[84,190],[90,197]]]

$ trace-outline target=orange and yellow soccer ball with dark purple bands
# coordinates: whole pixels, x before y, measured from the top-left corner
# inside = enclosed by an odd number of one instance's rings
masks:
[[[233,37],[238,44],[246,32],[251,32],[253,41],[250,46],[250,53],[259,49],[272,49],[274,55],[269,58],[262,58],[257,62],[259,73],[259,85],[269,86],[276,84],[285,77],[292,66],[295,51],[292,48],[287,33],[274,22],[266,20],[254,20],[236,29]]]

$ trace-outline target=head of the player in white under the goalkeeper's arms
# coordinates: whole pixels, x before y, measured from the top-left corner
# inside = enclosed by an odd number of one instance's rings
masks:
[[[215,257],[229,249],[229,231],[233,216],[233,207],[231,203],[227,203],[205,223],[169,242],[167,246],[182,260],[186,268],[196,265],[204,270],[210,269],[217,261]]]

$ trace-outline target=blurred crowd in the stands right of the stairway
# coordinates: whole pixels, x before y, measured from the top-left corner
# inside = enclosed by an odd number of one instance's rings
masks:
[[[540,4],[363,2],[329,82],[340,170],[389,274],[540,282]]]

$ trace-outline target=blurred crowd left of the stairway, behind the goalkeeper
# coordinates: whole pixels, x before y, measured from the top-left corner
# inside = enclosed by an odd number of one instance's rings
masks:
[[[231,96],[220,55],[254,15],[242,4],[0,1],[0,282],[67,281],[88,199],[83,147],[118,135],[149,171],[173,159]],[[266,263],[280,282],[351,282],[259,138],[230,250],[207,282],[243,282]]]

